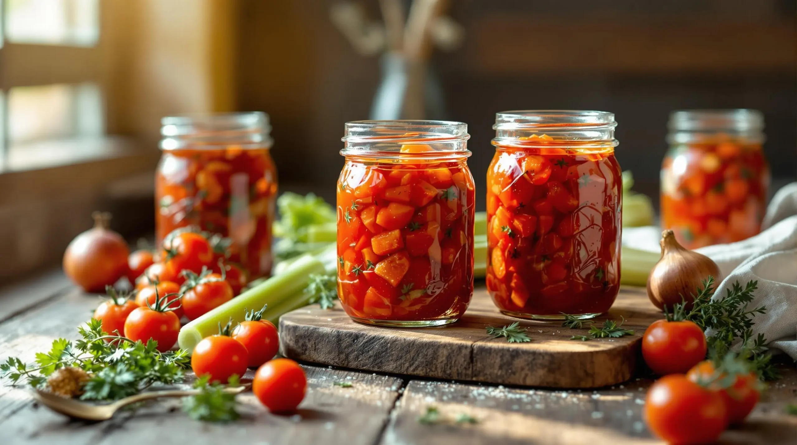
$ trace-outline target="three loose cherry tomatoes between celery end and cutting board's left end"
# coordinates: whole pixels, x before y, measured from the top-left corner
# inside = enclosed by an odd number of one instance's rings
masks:
[[[261,320],[263,309],[246,314],[230,330],[230,323],[217,335],[205,337],[191,354],[191,368],[197,376],[227,383],[233,375],[243,376],[247,368],[257,368],[252,392],[272,412],[289,412],[304,399],[307,376],[293,360],[273,359],[279,349],[277,327]],[[272,360],[273,359],[273,360]]]

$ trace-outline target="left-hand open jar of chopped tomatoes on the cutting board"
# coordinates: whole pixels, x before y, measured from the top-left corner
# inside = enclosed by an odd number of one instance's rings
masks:
[[[355,321],[453,323],[473,296],[468,126],[347,122],[337,188],[338,296]]]

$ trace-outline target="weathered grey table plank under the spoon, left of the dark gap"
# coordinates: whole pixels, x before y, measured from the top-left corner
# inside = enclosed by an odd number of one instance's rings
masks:
[[[78,291],[57,297],[0,325],[0,359],[32,360],[57,337],[76,337],[96,298]],[[189,419],[179,400],[162,400],[101,423],[69,420],[33,404],[27,388],[0,387],[0,443],[376,443],[398,397],[402,380],[305,366],[308,394],[295,415],[272,415],[251,393],[238,396],[244,418],[231,425]],[[251,377],[253,372],[249,371]],[[334,385],[349,381],[351,388]],[[6,384],[6,382],[2,382]]]

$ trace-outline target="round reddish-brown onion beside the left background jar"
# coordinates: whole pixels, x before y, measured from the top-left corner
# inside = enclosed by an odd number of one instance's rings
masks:
[[[94,227],[77,235],[64,253],[64,272],[87,292],[104,292],[128,272],[128,243],[108,228],[111,214],[92,213]]]

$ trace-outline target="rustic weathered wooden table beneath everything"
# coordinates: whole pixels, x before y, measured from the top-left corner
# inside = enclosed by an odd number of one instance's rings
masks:
[[[96,306],[96,297],[75,290],[53,271],[0,290],[0,360],[49,348],[56,337],[75,337],[75,327]],[[33,403],[28,388],[0,386],[0,445],[17,443],[658,443],[642,420],[651,380],[597,391],[505,388],[489,384],[420,380],[304,365],[309,388],[294,415],[271,415],[253,396],[239,396],[243,419],[225,425],[198,423],[163,400],[112,420],[71,420]],[[797,443],[797,370],[783,362],[783,377],[744,424],[726,431],[723,443]],[[350,388],[335,382],[351,382]],[[418,422],[434,406],[450,423]],[[475,424],[455,424],[466,413]]]

